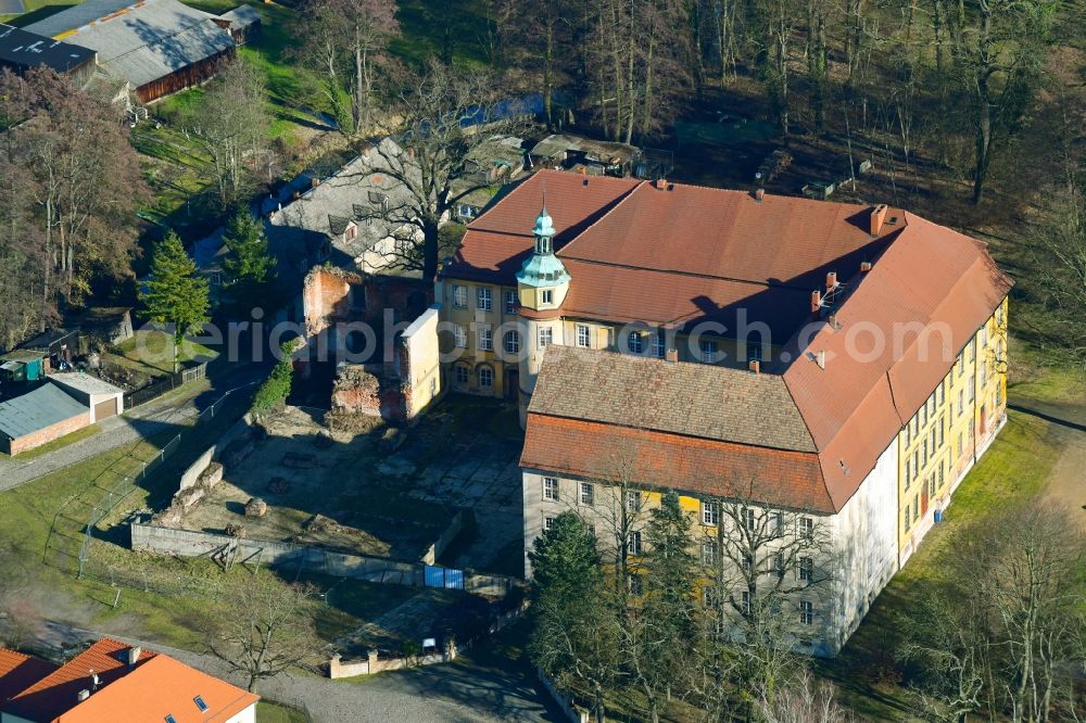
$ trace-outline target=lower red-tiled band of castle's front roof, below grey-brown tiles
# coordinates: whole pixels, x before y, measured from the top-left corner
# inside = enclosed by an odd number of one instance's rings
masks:
[[[648,487],[770,498],[785,507],[834,511],[812,453],[531,414],[520,466],[591,480],[628,480]]]

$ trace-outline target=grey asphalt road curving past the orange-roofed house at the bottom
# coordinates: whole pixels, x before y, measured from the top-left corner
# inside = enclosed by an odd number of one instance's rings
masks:
[[[54,650],[71,649],[100,636],[100,633],[50,622],[46,623],[38,643]],[[214,656],[117,635],[111,637],[159,650],[212,675],[240,682]],[[304,703],[316,723],[563,720],[538,682],[519,664],[493,659],[485,652],[479,660],[464,657],[446,665],[382,673],[355,681],[280,675],[261,683],[258,692],[272,700],[295,706]]]

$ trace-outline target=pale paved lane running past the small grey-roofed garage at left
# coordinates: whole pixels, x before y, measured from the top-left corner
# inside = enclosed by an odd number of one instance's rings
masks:
[[[209,378],[212,383],[211,392],[205,385],[190,382],[189,390],[182,386],[164,397],[135,407],[123,416],[102,420],[99,422],[101,431],[93,436],[73,442],[40,457],[0,459],[0,492],[71,467],[103,452],[136,444],[160,432],[177,429],[211,406],[228,390],[251,384],[266,375],[267,370],[256,365],[231,366]]]

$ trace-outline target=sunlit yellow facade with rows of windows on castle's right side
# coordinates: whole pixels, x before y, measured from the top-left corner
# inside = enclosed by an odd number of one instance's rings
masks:
[[[949,373],[898,433],[901,563],[944,510],[1007,414],[1007,300],[961,351]]]

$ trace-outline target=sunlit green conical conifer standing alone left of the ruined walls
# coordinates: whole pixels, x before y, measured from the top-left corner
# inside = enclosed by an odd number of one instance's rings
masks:
[[[174,337],[174,372],[177,372],[177,346],[185,334],[203,328],[210,319],[207,280],[197,276],[197,265],[185,253],[180,238],[167,231],[154,248],[151,278],[140,293],[144,318],[172,326]]]

